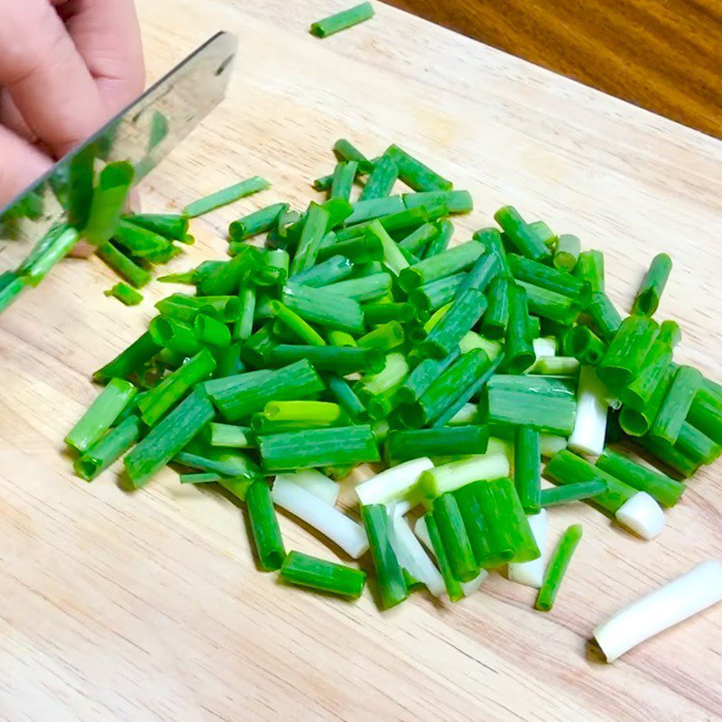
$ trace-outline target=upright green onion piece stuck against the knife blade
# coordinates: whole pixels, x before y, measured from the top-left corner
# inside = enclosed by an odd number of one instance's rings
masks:
[[[113,236],[133,186],[134,175],[133,165],[129,162],[108,163],[100,171],[93,190],[88,224],[82,231],[88,243],[103,245]]]

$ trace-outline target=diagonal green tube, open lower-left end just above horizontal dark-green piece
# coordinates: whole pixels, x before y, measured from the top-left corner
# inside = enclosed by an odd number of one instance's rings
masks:
[[[412,428],[426,426],[451,403],[459,393],[483,375],[492,361],[480,348],[469,351],[449,366],[413,403],[407,403],[400,410],[403,422]]]

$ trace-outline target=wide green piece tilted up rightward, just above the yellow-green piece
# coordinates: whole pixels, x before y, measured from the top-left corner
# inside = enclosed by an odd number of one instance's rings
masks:
[[[227,421],[238,421],[261,411],[268,399],[302,399],[319,393],[323,387],[319,375],[306,360],[277,371],[255,371],[206,383],[208,395]]]

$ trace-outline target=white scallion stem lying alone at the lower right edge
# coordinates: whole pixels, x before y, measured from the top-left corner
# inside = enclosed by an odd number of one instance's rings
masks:
[[[722,601],[722,561],[699,564],[664,587],[611,616],[594,630],[594,638],[614,662],[644,640]]]

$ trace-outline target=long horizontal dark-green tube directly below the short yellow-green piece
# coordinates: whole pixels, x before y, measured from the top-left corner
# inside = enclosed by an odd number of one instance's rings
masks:
[[[258,449],[267,471],[355,466],[380,459],[369,426],[312,429],[264,436]]]

